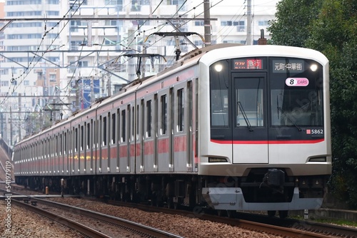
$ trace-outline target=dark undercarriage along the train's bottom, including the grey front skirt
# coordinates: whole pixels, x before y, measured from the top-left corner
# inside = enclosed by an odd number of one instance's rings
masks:
[[[63,179],[63,182],[61,180]],[[81,175],[74,177],[16,177],[31,190],[95,196],[154,206],[210,207],[218,214],[238,210],[276,211],[284,218],[289,209],[321,206],[327,177],[288,177],[283,170],[257,169],[247,177],[198,175]],[[306,203],[313,202],[311,205]],[[299,207],[304,206],[304,207]],[[280,208],[280,209],[279,209]],[[311,208],[310,208],[311,209]]]

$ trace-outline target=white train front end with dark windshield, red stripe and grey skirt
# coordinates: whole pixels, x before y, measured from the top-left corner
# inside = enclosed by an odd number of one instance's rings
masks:
[[[288,46],[206,53],[198,174],[218,210],[316,209],[331,175],[328,60]]]

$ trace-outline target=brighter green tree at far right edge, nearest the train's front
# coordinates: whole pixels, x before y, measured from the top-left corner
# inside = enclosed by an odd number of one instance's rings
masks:
[[[330,60],[333,193],[357,207],[357,1],[324,1],[306,47]]]

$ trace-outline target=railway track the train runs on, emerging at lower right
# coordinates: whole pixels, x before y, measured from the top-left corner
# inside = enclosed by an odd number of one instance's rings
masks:
[[[169,214],[179,214],[186,217],[197,217],[199,219],[209,220],[229,224],[233,227],[241,227],[267,234],[276,234],[283,237],[298,238],[316,238],[316,237],[357,237],[357,229],[351,227],[337,226],[333,224],[323,224],[318,222],[307,222],[298,219],[280,219],[277,217],[268,217],[260,214],[251,214],[246,212],[237,212],[234,217],[219,217],[214,214],[208,214],[203,209],[196,211],[185,211],[181,209],[168,209],[166,207],[152,207],[148,205],[133,205],[127,202],[117,202],[108,200],[106,203],[117,206],[129,206],[143,209],[149,212],[164,212]]]

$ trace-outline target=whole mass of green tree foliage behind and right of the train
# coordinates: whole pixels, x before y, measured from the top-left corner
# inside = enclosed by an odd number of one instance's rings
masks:
[[[311,1],[313,2],[313,1]],[[301,9],[293,7],[306,4]],[[312,4],[312,3],[311,3]],[[357,206],[357,1],[318,1],[308,9],[308,1],[281,1],[277,19],[271,22],[271,43],[314,48],[330,61],[331,134],[333,175],[331,191],[351,207]],[[301,21],[298,31],[287,27],[291,19],[313,16]],[[284,35],[283,32],[286,32]],[[300,38],[300,36],[299,36]]]

